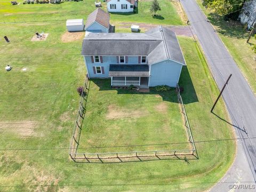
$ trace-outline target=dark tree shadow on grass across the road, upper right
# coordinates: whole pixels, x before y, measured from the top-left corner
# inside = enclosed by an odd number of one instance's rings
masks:
[[[225,21],[223,17],[215,13],[210,13],[208,19],[214,26],[218,27],[216,31],[222,35],[235,38],[247,38],[249,35],[246,28],[239,21]]]

